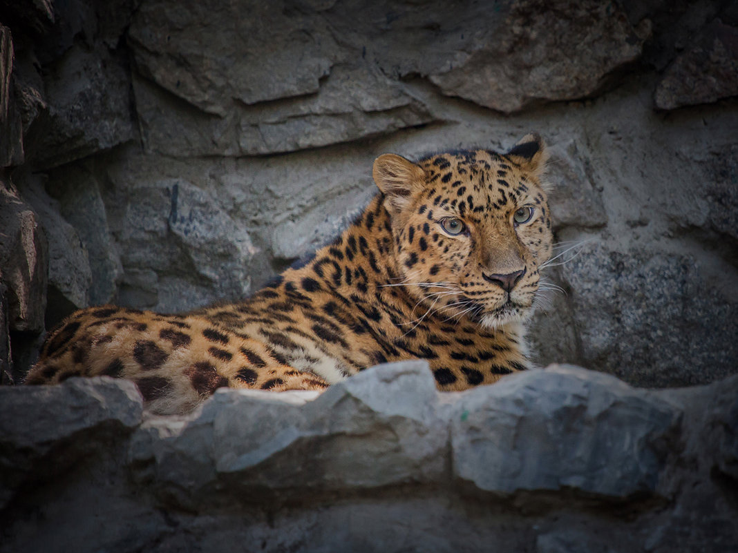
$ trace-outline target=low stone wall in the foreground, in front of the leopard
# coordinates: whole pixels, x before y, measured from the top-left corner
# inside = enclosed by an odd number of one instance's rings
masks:
[[[440,394],[424,361],[187,417],[4,386],[0,552],[734,552],[737,398],[574,366]]]

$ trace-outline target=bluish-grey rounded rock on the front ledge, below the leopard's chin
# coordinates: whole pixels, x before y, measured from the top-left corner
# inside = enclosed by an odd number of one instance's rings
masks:
[[[573,366],[518,373],[464,394],[451,420],[455,478],[480,492],[652,495],[678,411]]]

